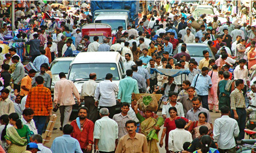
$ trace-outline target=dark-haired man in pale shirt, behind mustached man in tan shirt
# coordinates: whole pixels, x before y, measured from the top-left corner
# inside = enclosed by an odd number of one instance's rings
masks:
[[[121,113],[114,115],[113,120],[116,121],[118,125],[118,140],[121,137],[128,134],[128,131],[125,129],[126,121],[132,120],[128,115],[128,111],[130,110],[130,105],[128,103],[122,103],[121,105]]]

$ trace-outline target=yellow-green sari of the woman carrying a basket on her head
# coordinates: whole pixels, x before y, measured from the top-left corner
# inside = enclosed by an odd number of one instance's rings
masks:
[[[159,153],[159,150],[157,147],[158,139],[155,139],[155,138],[152,138],[151,140],[148,139],[149,135],[151,134],[151,131],[154,129],[157,123],[157,120],[152,117],[145,119],[140,115],[140,113],[137,113],[136,117],[140,121],[141,134],[147,137],[149,153]]]

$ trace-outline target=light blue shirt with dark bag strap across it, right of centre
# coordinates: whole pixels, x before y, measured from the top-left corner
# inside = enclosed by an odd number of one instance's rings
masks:
[[[197,77],[198,77],[198,80],[197,80]],[[196,82],[196,80],[197,80],[197,82]],[[195,84],[196,84],[196,86],[195,86]],[[212,86],[209,86],[210,84],[213,85],[211,77],[209,75],[203,76],[200,73],[200,74],[195,75],[195,77],[191,83],[191,86],[196,89],[198,95],[206,96],[206,95],[208,95],[209,88],[212,87]]]

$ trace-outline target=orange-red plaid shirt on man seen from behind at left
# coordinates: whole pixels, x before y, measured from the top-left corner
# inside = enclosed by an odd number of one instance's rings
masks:
[[[52,109],[50,89],[42,84],[30,89],[25,107],[33,109],[35,116],[48,116]]]

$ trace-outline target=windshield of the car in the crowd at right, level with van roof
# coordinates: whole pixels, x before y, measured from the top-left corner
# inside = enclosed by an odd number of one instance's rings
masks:
[[[178,47],[178,53],[181,52],[181,48],[182,46]],[[207,50],[209,52],[209,57],[212,57],[210,48],[206,46],[187,46],[187,49],[190,52],[190,57],[204,57],[203,50]]]

